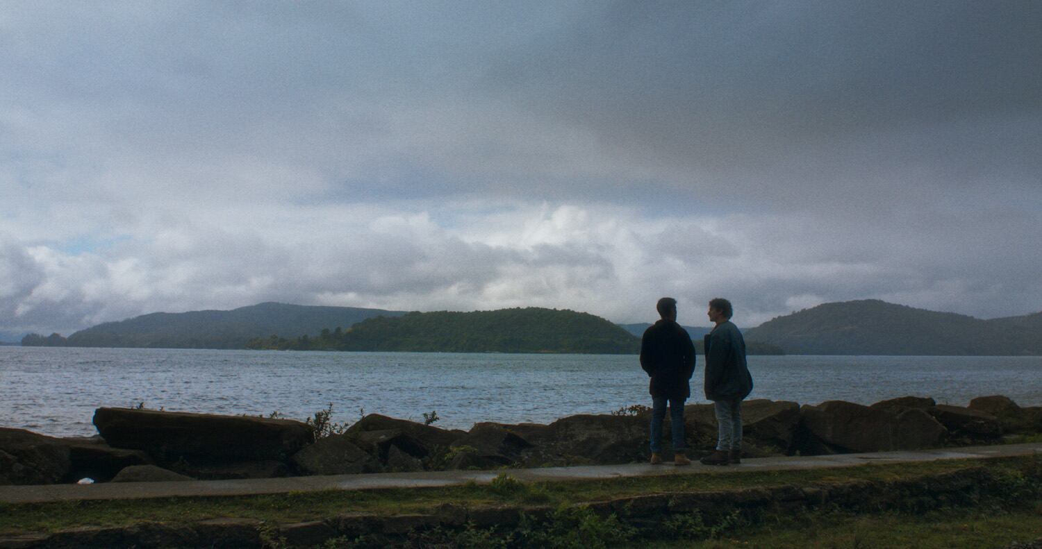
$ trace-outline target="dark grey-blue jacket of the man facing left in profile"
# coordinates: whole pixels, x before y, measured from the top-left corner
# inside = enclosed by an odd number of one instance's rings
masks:
[[[705,398],[743,399],[752,392],[752,375],[745,364],[745,339],[728,320],[705,334]]]

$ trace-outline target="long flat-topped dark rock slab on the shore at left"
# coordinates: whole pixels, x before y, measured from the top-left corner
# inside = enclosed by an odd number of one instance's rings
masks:
[[[246,416],[98,408],[94,424],[109,446],[145,450],[158,459],[284,459],[313,440],[313,428],[299,421]]]

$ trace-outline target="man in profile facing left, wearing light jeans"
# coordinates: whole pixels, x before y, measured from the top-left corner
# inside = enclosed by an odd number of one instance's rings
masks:
[[[705,335],[705,398],[716,407],[716,451],[701,458],[705,465],[742,463],[742,399],[752,392],[752,376],[745,364],[745,340],[730,322],[730,301],[710,301],[710,321],[716,326]]]

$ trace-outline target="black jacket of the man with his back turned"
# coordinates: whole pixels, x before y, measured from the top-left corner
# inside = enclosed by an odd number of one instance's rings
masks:
[[[651,377],[648,393],[652,397],[690,397],[695,346],[688,330],[666,319],[648,326],[641,339],[641,368]]]

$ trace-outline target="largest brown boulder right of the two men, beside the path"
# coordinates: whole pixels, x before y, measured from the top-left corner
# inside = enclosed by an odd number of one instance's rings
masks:
[[[832,400],[800,407],[798,450],[818,453],[879,452],[939,446],[944,428],[919,408],[872,408]]]

